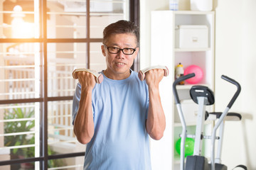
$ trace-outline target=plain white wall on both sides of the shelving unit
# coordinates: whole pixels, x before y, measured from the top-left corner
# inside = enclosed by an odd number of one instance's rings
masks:
[[[235,92],[222,74],[240,82],[242,91],[230,111],[242,114],[241,122],[226,123],[223,163],[228,169],[245,164],[256,169],[256,1],[213,0],[215,21],[215,108],[223,111]],[[189,0],[179,1],[179,10],[190,8]],[[140,67],[150,65],[150,13],[166,10],[169,0],[141,0]],[[164,20],[164,16],[163,16]],[[161,164],[161,162],[159,162]]]

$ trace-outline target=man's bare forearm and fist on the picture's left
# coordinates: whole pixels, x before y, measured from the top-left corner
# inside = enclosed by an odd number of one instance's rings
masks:
[[[95,77],[88,72],[78,72],[78,81],[81,84],[81,97],[73,130],[78,141],[87,144],[94,135],[92,89],[95,86]]]

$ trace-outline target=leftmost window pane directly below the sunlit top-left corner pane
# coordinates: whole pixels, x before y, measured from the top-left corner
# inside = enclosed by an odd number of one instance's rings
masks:
[[[0,44],[0,100],[38,98],[40,43]]]

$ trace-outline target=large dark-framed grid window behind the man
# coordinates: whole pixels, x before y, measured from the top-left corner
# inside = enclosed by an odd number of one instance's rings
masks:
[[[119,19],[139,23],[139,1],[0,3],[0,169],[82,169],[71,73],[105,69],[102,30]]]

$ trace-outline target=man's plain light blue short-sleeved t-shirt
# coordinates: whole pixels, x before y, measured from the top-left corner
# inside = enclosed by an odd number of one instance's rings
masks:
[[[73,99],[73,121],[78,112],[81,86]],[[127,79],[112,80],[104,76],[92,90],[95,134],[87,144],[84,169],[151,169],[149,135],[146,118],[149,92],[137,72]]]

